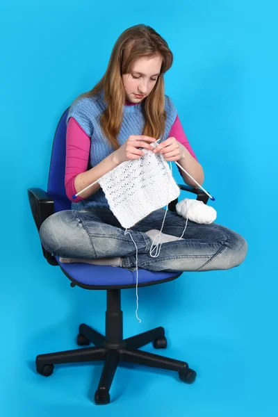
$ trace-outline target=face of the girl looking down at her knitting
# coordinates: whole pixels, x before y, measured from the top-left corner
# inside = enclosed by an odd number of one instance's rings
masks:
[[[134,61],[131,74],[122,75],[127,100],[131,103],[140,103],[149,95],[156,85],[161,64],[160,55],[152,58],[144,56]]]

